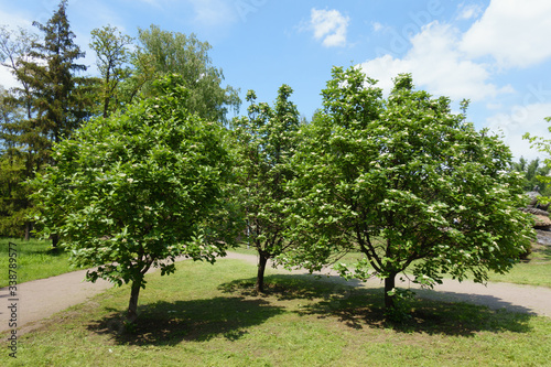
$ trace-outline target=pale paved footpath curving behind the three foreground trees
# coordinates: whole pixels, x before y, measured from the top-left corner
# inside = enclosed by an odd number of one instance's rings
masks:
[[[228,252],[227,258],[239,259],[250,263],[257,262],[257,257],[251,255]],[[279,269],[278,271],[289,273],[289,271],[283,269]],[[305,272],[304,270],[294,270],[293,273]],[[323,273],[335,276],[334,272],[328,270]],[[50,317],[54,313],[72,305],[83,303],[112,287],[104,280],[98,280],[96,283],[85,282],[85,274],[86,270],[79,270],[19,284],[17,305],[20,334],[37,328],[41,320]],[[337,277],[331,277],[329,279],[343,284],[368,288],[382,287],[380,280],[360,283],[357,281],[346,282]],[[419,289],[417,284],[402,283],[397,285]],[[469,302],[486,305],[494,310],[506,309],[551,317],[551,288],[509,283],[488,283],[485,287],[471,281],[460,283],[453,280],[445,280],[444,284],[436,285],[434,291],[418,290],[415,292],[423,298],[449,302]],[[0,289],[0,332],[10,330],[10,310],[8,307],[11,303],[8,288]]]

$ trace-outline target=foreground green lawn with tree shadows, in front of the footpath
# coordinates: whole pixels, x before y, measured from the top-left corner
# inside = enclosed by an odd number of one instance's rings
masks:
[[[551,320],[415,299],[388,324],[382,290],[356,289],[222,259],[148,274],[138,325],[121,320],[129,288],[111,289],[21,335],[1,366],[543,366]],[[0,335],[6,342],[7,334]]]

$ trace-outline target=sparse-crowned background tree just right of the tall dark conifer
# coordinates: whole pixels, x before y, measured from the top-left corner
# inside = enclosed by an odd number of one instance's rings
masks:
[[[101,114],[108,117],[121,101],[120,83],[130,76],[129,46],[132,37],[115,26],[105,25],[91,31],[90,47],[96,52],[96,64],[101,76]]]

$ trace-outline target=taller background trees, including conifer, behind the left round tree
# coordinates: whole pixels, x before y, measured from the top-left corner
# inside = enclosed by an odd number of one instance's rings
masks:
[[[31,235],[32,203],[22,182],[55,164],[53,144],[91,118],[106,118],[150,95],[161,75],[180,74],[190,107],[206,119],[226,121],[240,104],[237,89],[223,87],[208,43],[156,25],[140,29],[137,40],[110,25],[91,31],[99,76],[86,75],[66,9],[67,1],[61,1],[45,24],[34,22],[39,34],[0,28],[0,60],[19,82],[10,90],[0,87],[1,236]]]

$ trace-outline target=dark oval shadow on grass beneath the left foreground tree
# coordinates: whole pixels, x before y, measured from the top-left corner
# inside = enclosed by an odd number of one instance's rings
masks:
[[[89,324],[88,330],[109,334],[118,344],[131,345],[175,345],[182,341],[203,342],[218,336],[235,341],[247,334],[248,327],[284,312],[264,300],[241,296],[159,301],[138,309],[139,317],[131,331],[126,330],[126,313],[120,310],[108,310],[110,314]]]

